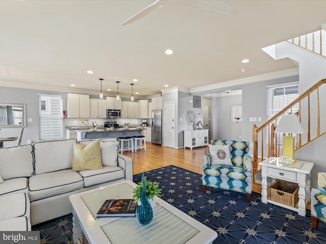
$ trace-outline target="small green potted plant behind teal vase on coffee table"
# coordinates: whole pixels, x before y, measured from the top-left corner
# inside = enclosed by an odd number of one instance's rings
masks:
[[[158,188],[159,186],[156,181],[153,182],[153,181],[150,181],[145,178],[145,182],[146,182],[146,186],[147,186],[147,189],[146,189],[147,198],[148,198],[152,208],[154,208],[155,203],[156,203],[155,196],[160,197],[161,196],[160,193],[162,190]],[[142,189],[143,189],[142,181],[138,182],[138,186],[135,189],[133,189],[132,197],[133,197],[133,199],[137,200],[138,205],[141,205]]]

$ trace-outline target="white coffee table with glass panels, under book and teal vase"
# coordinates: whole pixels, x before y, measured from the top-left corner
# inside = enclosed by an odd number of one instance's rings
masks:
[[[136,217],[96,218],[105,199],[132,198],[137,185],[120,181],[69,197],[73,207],[74,243],[82,232],[89,243],[212,243],[218,234],[181,210],[156,197],[153,220],[147,225]]]

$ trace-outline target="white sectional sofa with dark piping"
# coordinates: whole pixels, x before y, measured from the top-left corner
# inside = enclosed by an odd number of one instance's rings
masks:
[[[91,141],[79,143],[89,144]],[[68,199],[71,194],[132,180],[132,159],[118,154],[116,141],[116,138],[100,140],[102,169],[78,172],[72,170],[75,139],[0,148],[0,182],[3,181],[0,183],[0,202],[8,195],[24,194],[25,199],[29,199],[26,201],[30,201],[26,206],[30,207],[30,213],[9,216],[25,217],[31,222],[30,226],[69,214],[72,212]],[[24,206],[21,196],[21,200],[16,201]],[[0,209],[0,216],[2,211]],[[0,218],[0,230],[3,230],[1,221],[6,220]]]

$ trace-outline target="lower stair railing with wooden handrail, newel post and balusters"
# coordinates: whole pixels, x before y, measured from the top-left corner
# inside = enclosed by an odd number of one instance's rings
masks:
[[[275,133],[277,127],[278,118],[280,118],[285,112],[291,111],[292,114],[296,114],[301,121],[304,130],[307,134],[305,138],[302,138],[301,134],[292,135],[295,138],[295,151],[303,148],[304,146],[316,141],[322,136],[326,136],[326,128],[323,127],[321,131],[320,127],[320,111],[326,111],[326,104],[320,103],[319,93],[322,91],[326,94],[326,79],[319,80],[313,86],[311,86],[305,93],[299,96],[296,100],[282,109],[275,116],[267,120],[263,125],[253,127],[253,189],[260,192],[261,184],[261,172],[258,167],[258,163],[269,157],[280,157],[282,155],[282,145],[280,138],[283,137],[281,133]],[[323,89],[323,90],[321,90]],[[315,104],[311,103],[311,98],[314,97]],[[299,107],[298,111],[292,110],[293,107]],[[314,112],[311,112],[311,108],[314,108]],[[303,123],[305,118],[305,123]],[[313,121],[313,123],[312,123]],[[323,125],[325,121],[323,121]],[[266,133],[267,132],[267,133]],[[268,138],[264,140],[264,136],[268,135]],[[312,136],[313,135],[313,136]],[[266,142],[265,142],[266,141]],[[266,145],[264,145],[266,143]],[[264,151],[264,148],[266,150]],[[258,157],[258,154],[260,157]]]

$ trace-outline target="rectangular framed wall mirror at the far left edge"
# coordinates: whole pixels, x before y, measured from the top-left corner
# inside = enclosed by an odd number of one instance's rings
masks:
[[[26,105],[0,103],[0,128],[25,127]]]

